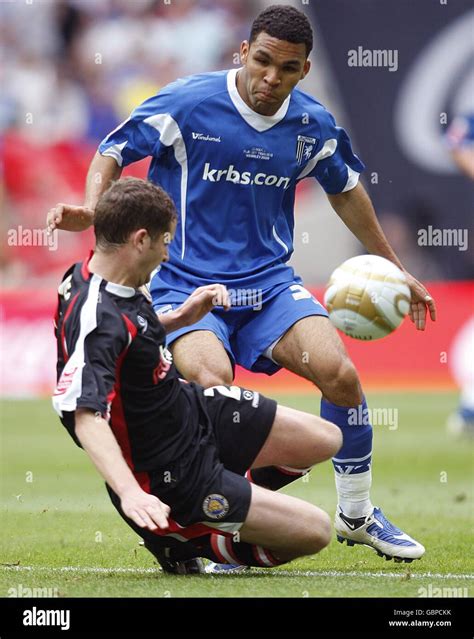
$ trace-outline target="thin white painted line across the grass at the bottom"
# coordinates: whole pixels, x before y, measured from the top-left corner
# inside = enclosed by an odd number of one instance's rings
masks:
[[[102,568],[93,566],[59,566],[55,568],[48,568],[47,566],[5,566],[0,565],[0,568],[11,571],[31,571],[31,572],[74,572],[84,574],[135,574],[135,575],[150,575],[156,574],[158,568]],[[251,576],[252,573],[249,574]],[[270,573],[269,573],[270,574]],[[344,570],[316,570],[316,571],[302,571],[302,570],[272,570],[272,575],[279,575],[281,577],[399,577],[407,578],[407,573],[402,572],[357,572],[344,571]],[[474,579],[473,574],[456,574],[456,573],[434,573],[434,572],[422,572],[422,573],[410,573],[409,579]]]

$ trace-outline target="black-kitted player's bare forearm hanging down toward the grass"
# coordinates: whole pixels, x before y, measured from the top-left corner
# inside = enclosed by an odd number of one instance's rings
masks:
[[[141,528],[168,528],[169,506],[140,488],[105,419],[88,409],[77,409],[75,418],[75,432],[82,447],[120,497],[125,515]]]

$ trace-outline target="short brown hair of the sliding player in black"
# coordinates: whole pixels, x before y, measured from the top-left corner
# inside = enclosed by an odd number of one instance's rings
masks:
[[[118,180],[101,195],[95,208],[97,246],[125,244],[139,229],[146,229],[155,240],[169,231],[176,217],[173,200],[159,186],[133,177]]]

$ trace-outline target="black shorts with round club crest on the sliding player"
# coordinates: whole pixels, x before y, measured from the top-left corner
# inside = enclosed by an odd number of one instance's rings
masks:
[[[169,467],[137,475],[147,492],[171,508],[169,530],[157,534],[180,542],[241,528],[251,498],[245,473],[270,433],[277,407],[274,400],[237,386],[204,390],[186,384],[185,393],[190,409],[199,415],[193,445]],[[124,517],[120,500],[108,490]],[[149,537],[124,519],[139,535]]]

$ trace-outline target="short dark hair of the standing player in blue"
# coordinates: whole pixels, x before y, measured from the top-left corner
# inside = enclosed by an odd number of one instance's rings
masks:
[[[262,31],[278,40],[306,45],[306,57],[313,48],[313,29],[308,18],[290,5],[273,4],[262,11],[252,24],[250,44]]]

